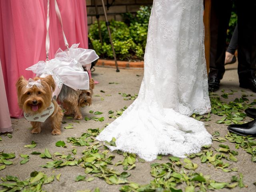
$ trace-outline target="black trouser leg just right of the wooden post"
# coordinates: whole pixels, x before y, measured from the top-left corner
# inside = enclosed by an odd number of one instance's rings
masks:
[[[209,78],[222,79],[225,72],[226,36],[231,8],[231,0],[212,0]]]

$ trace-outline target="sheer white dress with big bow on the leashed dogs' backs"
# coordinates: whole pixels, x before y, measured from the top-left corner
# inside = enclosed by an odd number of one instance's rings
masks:
[[[90,69],[91,63],[97,60],[99,56],[94,50],[78,48],[78,45],[73,44],[69,50],[65,51],[59,49],[55,58],[45,62],[39,61],[26,70],[32,70],[36,76],[42,78],[52,75],[56,83],[53,97],[58,97],[63,84],[74,90],[88,90],[89,75],[82,66]]]

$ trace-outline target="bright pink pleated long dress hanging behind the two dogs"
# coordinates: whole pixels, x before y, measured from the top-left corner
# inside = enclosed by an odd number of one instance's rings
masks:
[[[70,46],[80,43],[79,47],[88,48],[85,0],[57,2]],[[23,116],[15,86],[18,78],[32,78],[32,71],[25,69],[46,59],[46,15],[47,0],[0,0],[0,59],[11,117]],[[50,0],[49,28],[51,59],[58,48],[65,49],[54,0]]]

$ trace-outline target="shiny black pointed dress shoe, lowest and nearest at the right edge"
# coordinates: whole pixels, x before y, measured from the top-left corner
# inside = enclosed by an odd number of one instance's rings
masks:
[[[242,125],[229,125],[228,130],[242,136],[251,135],[256,137],[256,120],[242,124]]]

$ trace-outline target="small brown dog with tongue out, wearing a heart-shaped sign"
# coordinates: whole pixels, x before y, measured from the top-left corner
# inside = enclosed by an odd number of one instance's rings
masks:
[[[49,113],[44,112],[54,106],[54,111],[49,116],[52,124],[52,134],[61,134],[60,126],[62,123],[63,112],[56,100],[52,99],[52,90],[55,89],[55,82],[51,75],[45,78],[35,77],[33,80],[27,81],[21,76],[16,83],[18,92],[18,104],[24,110],[26,116],[40,114],[40,117],[47,116]],[[53,103],[53,104],[52,104]],[[53,110],[52,106],[52,110]],[[41,115],[41,113],[43,113]],[[34,120],[37,120],[35,117]],[[32,133],[41,132],[41,122],[31,121]]]

